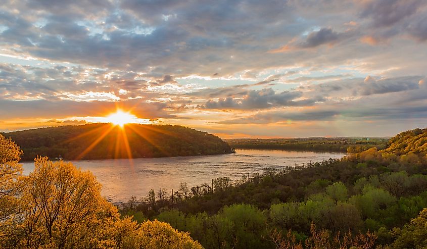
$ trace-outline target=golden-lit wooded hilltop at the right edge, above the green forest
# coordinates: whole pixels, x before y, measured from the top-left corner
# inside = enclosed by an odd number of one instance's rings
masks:
[[[386,150],[388,153],[404,155],[410,152],[427,154],[427,128],[404,131],[389,140]]]

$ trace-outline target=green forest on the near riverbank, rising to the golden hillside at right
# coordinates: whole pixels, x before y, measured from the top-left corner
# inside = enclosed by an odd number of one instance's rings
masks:
[[[158,219],[205,248],[425,248],[427,129],[342,160],[151,190],[122,215]],[[353,248],[354,248],[353,247]]]

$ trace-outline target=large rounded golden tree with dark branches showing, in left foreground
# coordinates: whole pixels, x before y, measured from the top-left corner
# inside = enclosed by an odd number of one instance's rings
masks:
[[[71,163],[36,158],[34,172],[23,179],[16,247],[95,247],[105,227],[119,218],[101,196],[101,184]]]

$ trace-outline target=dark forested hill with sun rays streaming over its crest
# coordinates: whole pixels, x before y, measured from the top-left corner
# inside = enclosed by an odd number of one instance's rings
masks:
[[[183,126],[112,124],[60,126],[3,133],[24,151],[23,161],[39,156],[64,160],[197,156],[230,153],[219,137]]]

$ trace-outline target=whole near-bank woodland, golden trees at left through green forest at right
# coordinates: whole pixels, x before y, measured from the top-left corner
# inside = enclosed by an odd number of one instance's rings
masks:
[[[132,197],[120,210],[71,163],[0,135],[0,248],[426,248],[427,129],[384,150]]]

